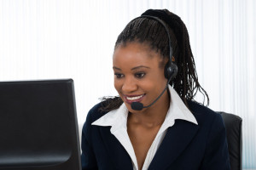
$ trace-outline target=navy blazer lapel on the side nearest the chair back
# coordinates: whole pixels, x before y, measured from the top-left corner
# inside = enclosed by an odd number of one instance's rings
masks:
[[[176,120],[175,124],[167,129],[166,136],[155,153],[148,170],[169,167],[193,139],[198,128],[199,125],[191,122]]]

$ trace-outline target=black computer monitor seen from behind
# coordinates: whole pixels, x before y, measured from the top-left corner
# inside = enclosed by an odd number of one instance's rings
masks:
[[[2,169],[81,169],[72,79],[0,82]]]

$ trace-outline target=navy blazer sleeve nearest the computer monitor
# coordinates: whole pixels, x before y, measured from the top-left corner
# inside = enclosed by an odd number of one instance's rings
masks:
[[[96,156],[94,154],[92,143],[91,143],[91,114],[92,110],[89,111],[86,121],[84,123],[84,127],[82,130],[82,155],[81,155],[81,162],[82,162],[82,169],[83,170],[96,170],[98,169],[96,164]]]

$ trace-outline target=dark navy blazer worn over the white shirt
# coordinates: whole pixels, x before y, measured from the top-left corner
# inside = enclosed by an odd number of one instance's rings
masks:
[[[92,126],[106,112],[95,105],[88,113],[82,132],[83,170],[132,170],[131,157],[110,127]],[[189,102],[198,125],[176,120],[156,151],[148,170],[226,170],[230,160],[222,117],[203,105]]]

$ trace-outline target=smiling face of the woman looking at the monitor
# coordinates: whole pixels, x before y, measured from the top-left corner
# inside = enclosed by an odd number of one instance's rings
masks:
[[[132,102],[150,105],[166,87],[167,79],[160,62],[160,54],[143,43],[130,42],[115,49],[114,87],[129,111],[136,112],[131,109]]]

